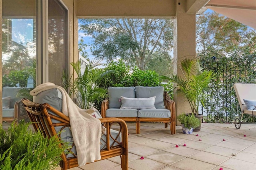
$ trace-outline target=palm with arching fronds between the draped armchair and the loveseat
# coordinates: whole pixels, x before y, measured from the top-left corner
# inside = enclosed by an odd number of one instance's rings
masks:
[[[100,62],[101,60],[95,59],[89,61],[88,64],[81,61],[72,62],[71,65],[77,77],[74,81],[71,78],[68,79],[65,73],[62,77],[64,88],[70,88],[69,95],[76,96],[79,107],[82,109],[94,107],[94,103],[99,103],[107,96],[107,89],[98,87],[96,82],[111,71],[103,72],[101,69],[97,69],[102,65]]]

